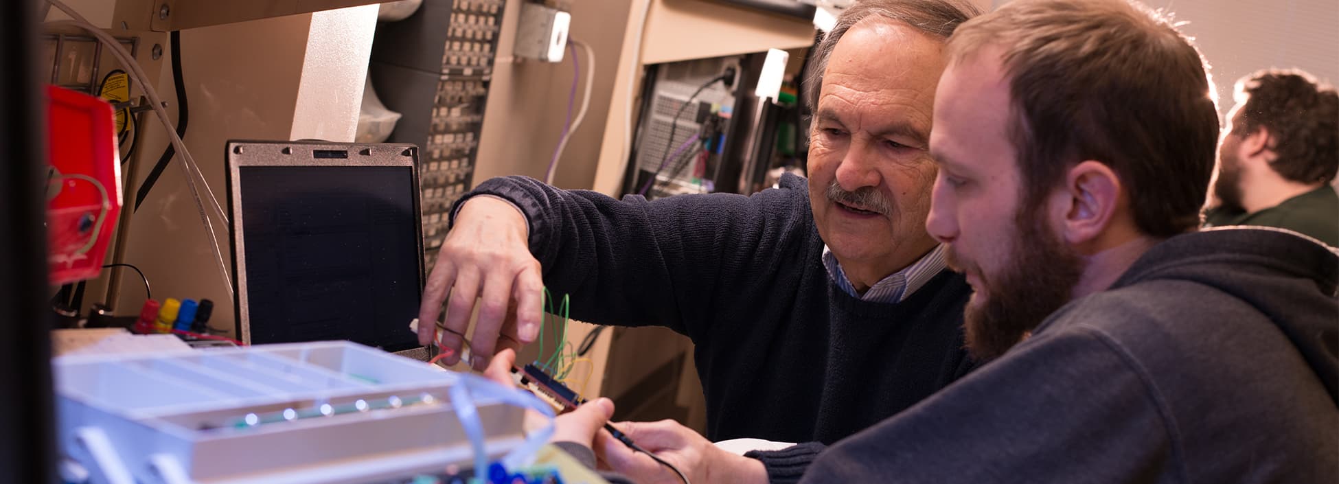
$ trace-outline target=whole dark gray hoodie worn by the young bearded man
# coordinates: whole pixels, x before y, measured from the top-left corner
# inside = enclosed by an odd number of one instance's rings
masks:
[[[803,483],[1335,483],[1336,281],[1292,233],[1170,238]]]

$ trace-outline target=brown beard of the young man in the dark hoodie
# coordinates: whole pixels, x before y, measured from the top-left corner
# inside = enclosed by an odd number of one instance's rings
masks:
[[[1074,295],[1083,259],[1032,215],[1039,213],[1023,210],[1015,217],[1018,237],[998,274],[984,274],[948,247],[948,265],[959,271],[973,270],[986,286],[975,287],[963,312],[967,352],[977,361],[1008,352]]]

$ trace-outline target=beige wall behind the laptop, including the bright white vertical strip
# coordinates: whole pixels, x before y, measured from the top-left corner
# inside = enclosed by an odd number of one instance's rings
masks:
[[[182,75],[190,106],[185,142],[225,211],[224,143],[229,139],[352,140],[375,17],[376,7],[355,7],[182,31]],[[162,70],[158,88],[175,115],[170,68]],[[166,146],[162,127],[143,126],[130,193],[138,190]],[[213,299],[212,326],[232,332],[228,285],[179,163],[173,160],[131,217],[122,262],[145,271],[159,301]],[[217,217],[210,219],[230,270],[229,227]],[[121,313],[133,314],[143,301],[134,287],[138,285],[134,271],[121,274]]]

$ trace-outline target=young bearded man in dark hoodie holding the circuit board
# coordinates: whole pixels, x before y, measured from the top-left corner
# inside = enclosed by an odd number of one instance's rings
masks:
[[[991,361],[801,481],[1332,483],[1339,257],[1196,230],[1218,123],[1190,43],[1138,4],[1015,0],[960,27],[949,59],[927,227],[972,285],[967,344]],[[562,427],[641,483],[674,481],[596,432],[607,408]],[[623,429],[707,463],[696,484],[767,479],[711,468],[749,465],[672,424]]]

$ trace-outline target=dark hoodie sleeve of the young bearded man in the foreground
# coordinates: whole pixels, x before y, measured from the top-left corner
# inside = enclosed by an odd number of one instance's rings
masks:
[[[802,483],[1145,483],[1184,463],[1146,369],[1074,326],[1040,333],[828,448]],[[1184,480],[1181,480],[1184,481]]]

